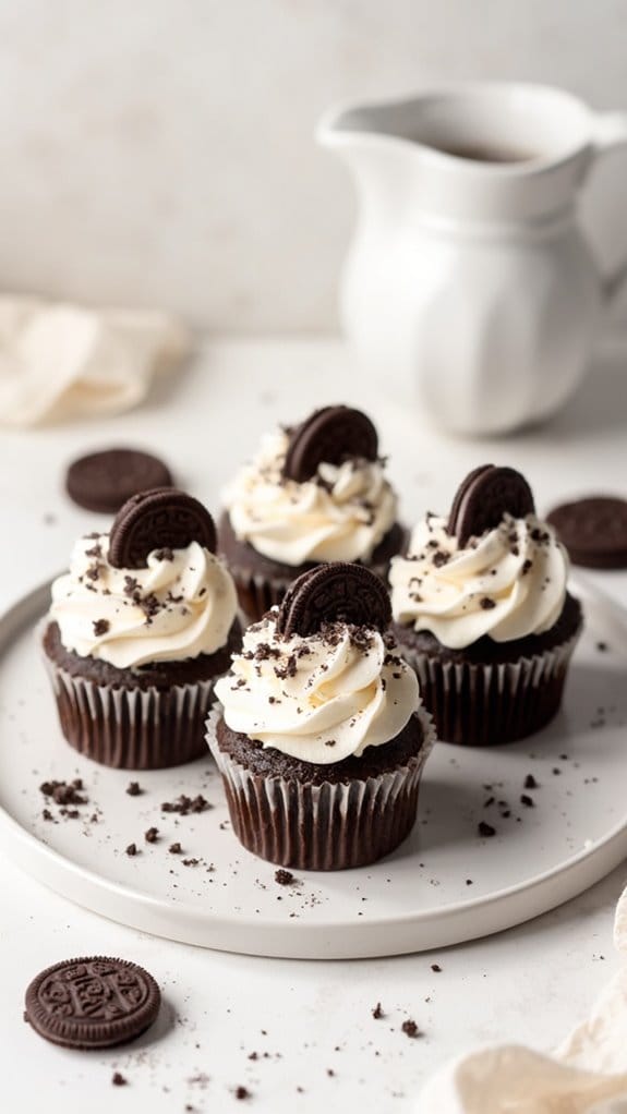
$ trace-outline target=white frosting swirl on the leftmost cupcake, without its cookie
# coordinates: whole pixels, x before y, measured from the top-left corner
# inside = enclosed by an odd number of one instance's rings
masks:
[[[50,617],[81,657],[120,670],[179,662],[224,646],[237,612],[231,574],[193,541],[154,550],[147,568],[114,568],[107,534],[79,538],[70,570],[52,585]]]

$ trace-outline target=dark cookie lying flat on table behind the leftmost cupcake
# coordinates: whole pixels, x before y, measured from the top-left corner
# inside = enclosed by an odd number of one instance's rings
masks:
[[[79,457],[68,468],[66,490],[79,507],[115,515],[139,491],[172,487],[167,465],[139,449],[105,449]]]

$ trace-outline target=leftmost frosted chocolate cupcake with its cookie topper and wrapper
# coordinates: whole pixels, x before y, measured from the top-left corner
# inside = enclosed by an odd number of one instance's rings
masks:
[[[81,754],[151,770],[206,753],[214,683],[241,645],[235,585],[214,550],[210,515],[174,488],[134,496],[110,534],[77,541],[43,651]]]

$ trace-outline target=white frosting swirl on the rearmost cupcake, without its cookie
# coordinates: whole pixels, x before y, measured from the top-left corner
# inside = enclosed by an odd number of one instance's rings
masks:
[[[368,560],[396,519],[381,462],[322,463],[297,483],[282,476],[287,443],[283,431],[267,434],[224,492],[236,537],[285,565]]]

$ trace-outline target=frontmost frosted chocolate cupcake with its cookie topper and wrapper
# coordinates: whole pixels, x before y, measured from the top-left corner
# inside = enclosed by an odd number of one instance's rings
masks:
[[[244,634],[208,722],[235,834],[301,870],[360,867],[410,833],[433,743],[363,566],[303,574]]]

